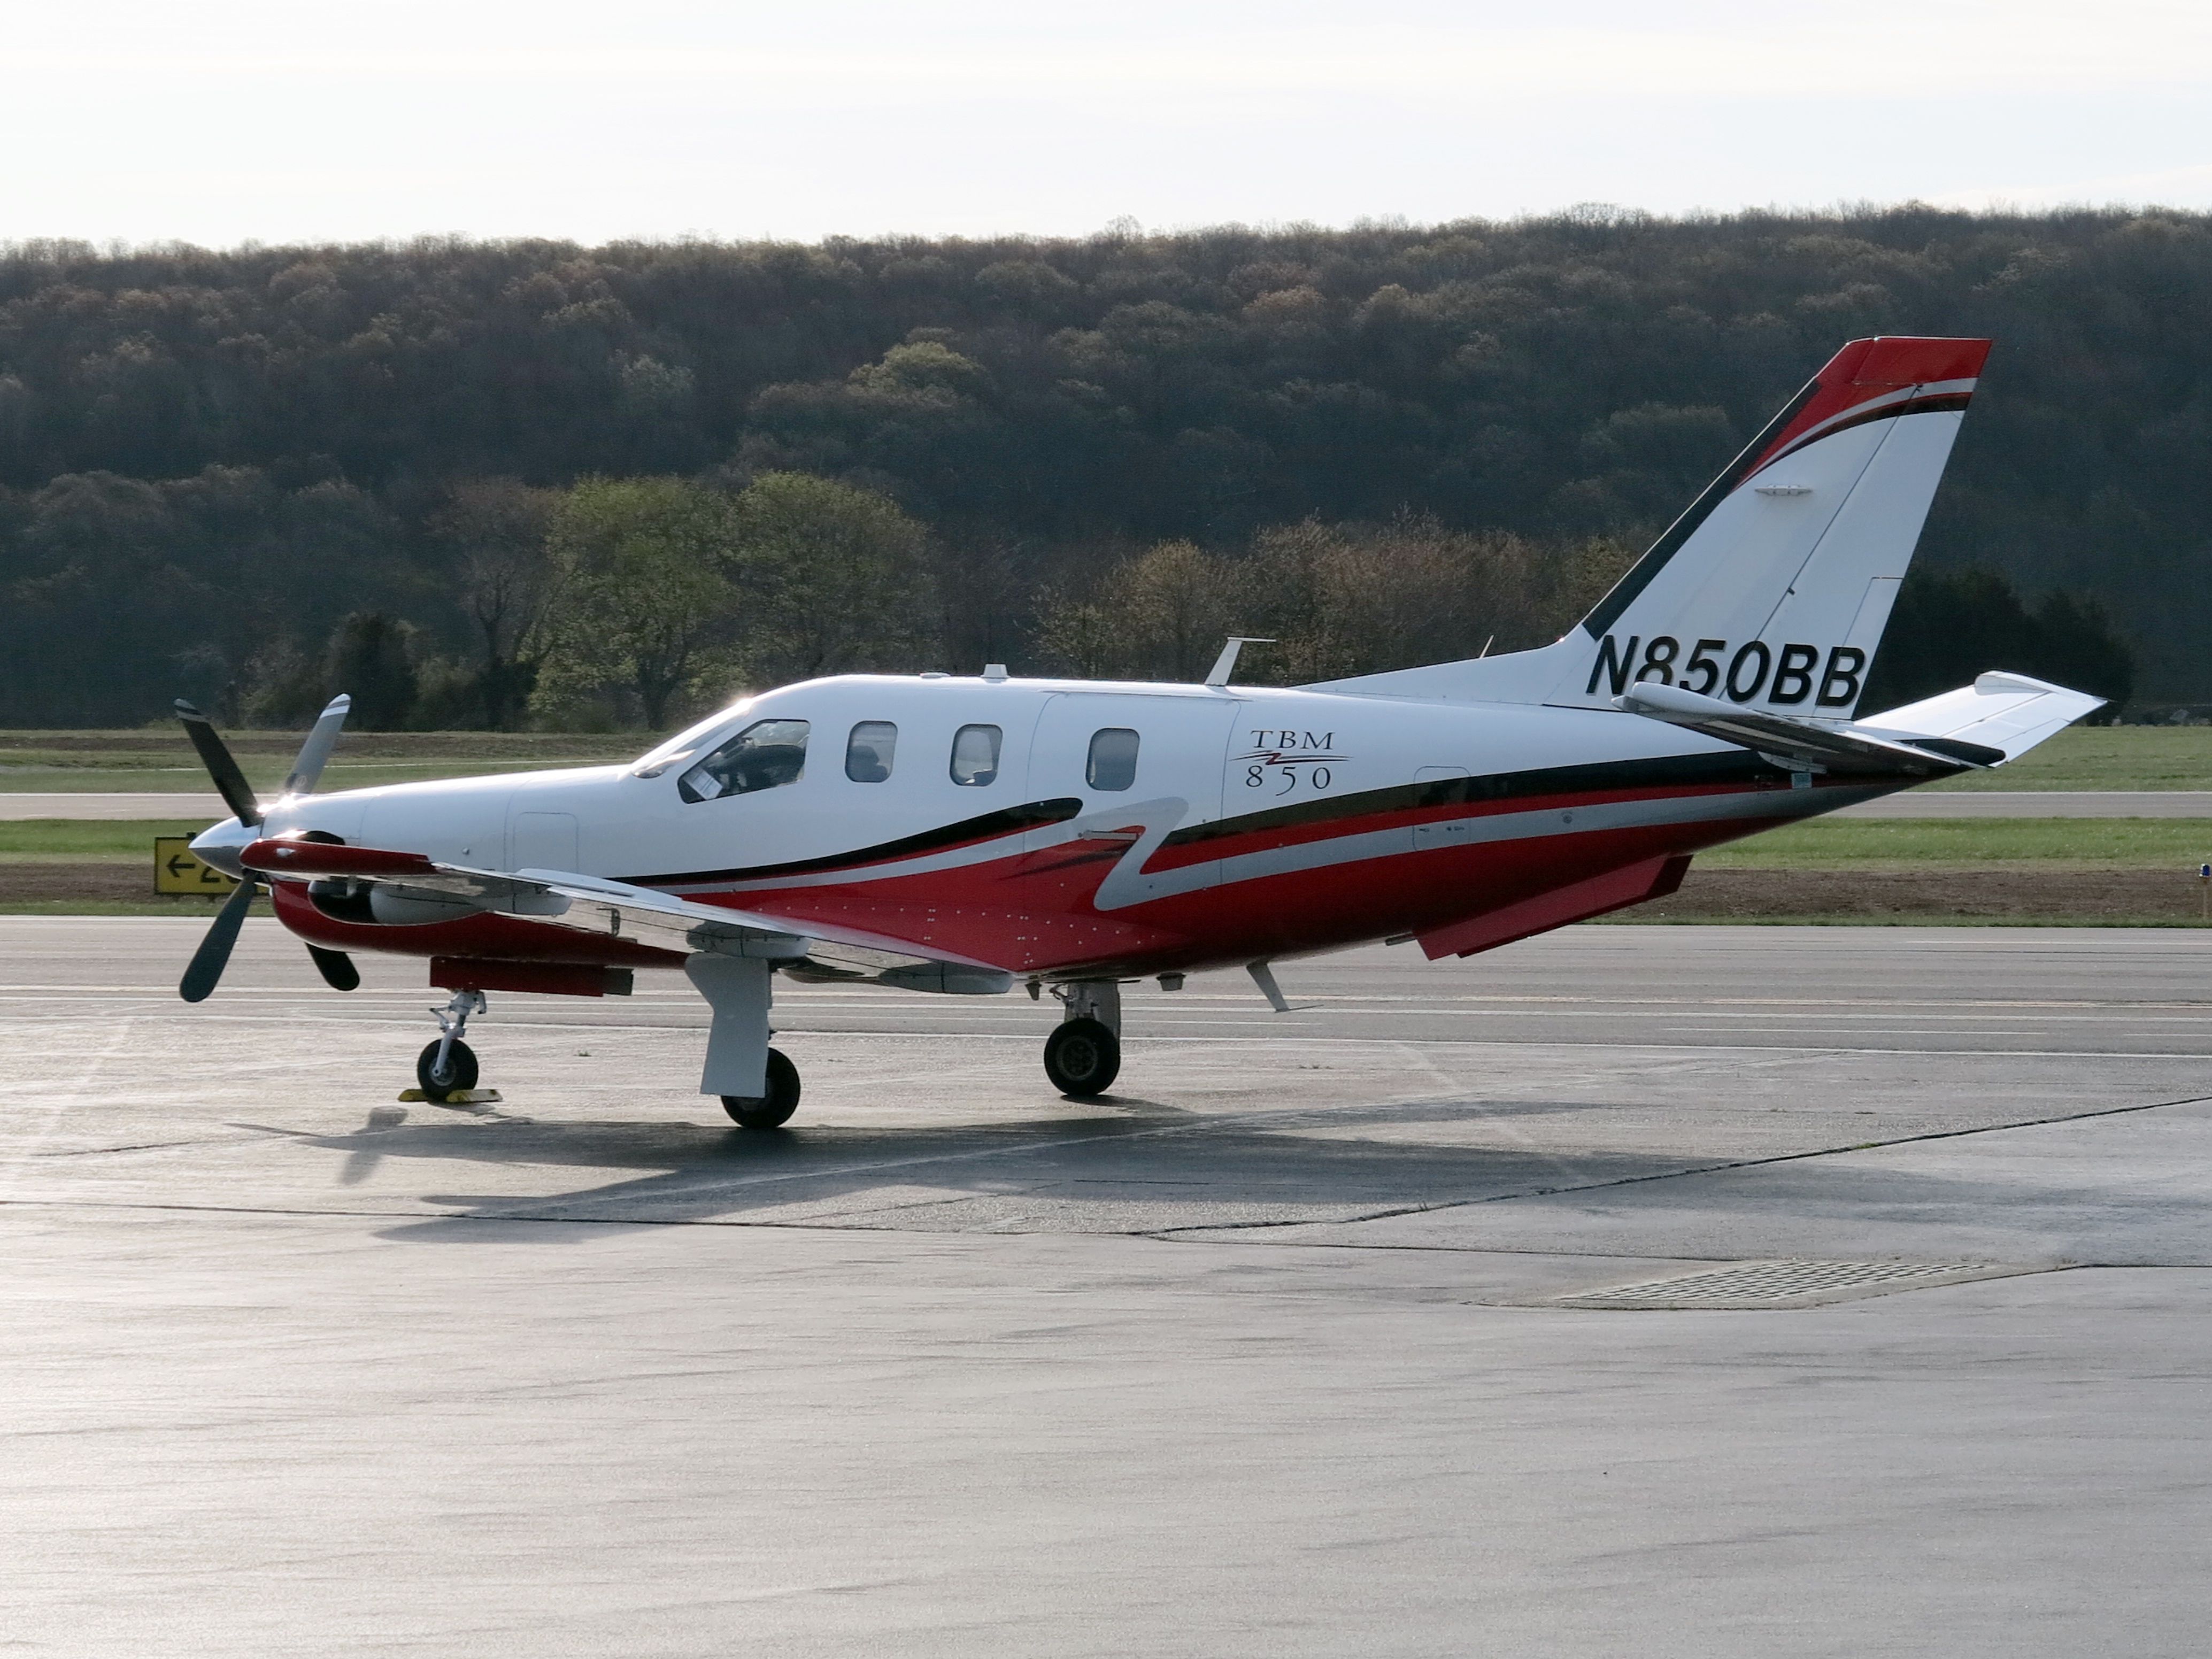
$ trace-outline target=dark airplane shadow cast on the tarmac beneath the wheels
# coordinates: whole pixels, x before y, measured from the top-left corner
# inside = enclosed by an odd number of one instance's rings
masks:
[[[1528,1128],[1608,1110],[1617,1106],[1416,1099],[1206,1115],[1121,1095],[1020,1121],[759,1133],[495,1110],[456,1121],[442,1108],[403,1115],[383,1106],[361,1130],[292,1139],[341,1155],[341,1186],[367,1181],[392,1159],[635,1172],[553,1181],[540,1192],[425,1192],[449,1214],[385,1234],[418,1241],[480,1239],[484,1221],[1166,1232],[1557,1192],[1710,1161],[1648,1148],[1553,1150]],[[562,1228],[535,1234],[573,1237]]]

